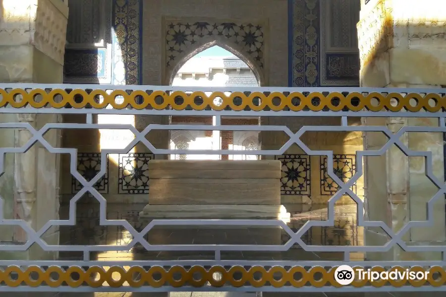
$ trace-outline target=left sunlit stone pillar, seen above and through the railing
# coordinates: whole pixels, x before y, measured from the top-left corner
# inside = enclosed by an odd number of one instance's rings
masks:
[[[3,0],[0,3],[0,82],[23,83],[23,88],[29,83],[62,83],[66,3],[60,0]],[[60,122],[60,116],[0,114],[0,121],[25,122],[40,129],[46,123]],[[0,139],[14,140],[8,141],[5,147],[21,147],[32,136],[24,129],[2,130]],[[51,131],[45,139],[58,147],[60,132]],[[59,156],[35,144],[26,153],[8,154],[5,165],[6,174],[0,178],[4,216],[23,219],[35,230],[48,220],[57,219]],[[19,228],[1,237],[4,241],[26,241],[26,234]],[[58,230],[51,229],[42,238],[50,245],[57,245]],[[44,252],[34,245],[19,256],[53,259],[57,253]]]

